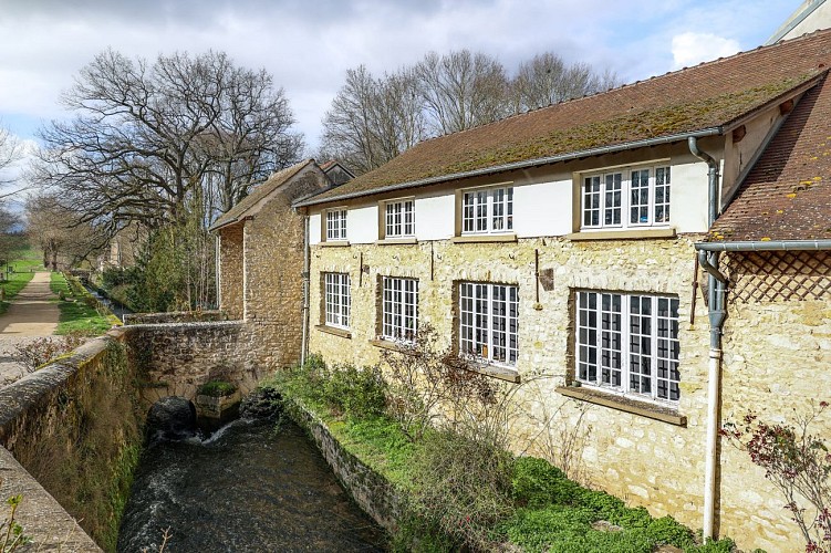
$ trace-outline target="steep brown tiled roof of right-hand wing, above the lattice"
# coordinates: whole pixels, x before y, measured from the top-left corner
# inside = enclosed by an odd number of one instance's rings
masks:
[[[831,79],[806,93],[709,241],[831,239]]]

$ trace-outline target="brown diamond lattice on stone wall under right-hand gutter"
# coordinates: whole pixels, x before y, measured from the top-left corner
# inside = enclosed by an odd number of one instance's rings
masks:
[[[831,300],[829,252],[731,252],[723,260],[730,279],[729,303]]]

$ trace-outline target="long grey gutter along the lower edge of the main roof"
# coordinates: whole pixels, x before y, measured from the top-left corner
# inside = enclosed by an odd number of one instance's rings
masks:
[[[541,165],[549,165],[554,164],[559,161],[568,161],[571,159],[578,159],[581,157],[591,157],[591,156],[599,156],[603,154],[612,154],[616,152],[623,152],[626,149],[635,149],[635,148],[644,148],[648,146],[657,146],[661,144],[667,144],[673,142],[679,142],[679,140],[686,140],[690,136],[694,136],[696,138],[703,138],[705,136],[714,136],[714,135],[721,135],[724,134],[724,127],[717,126],[717,127],[707,127],[702,128],[699,131],[692,131],[686,133],[679,133],[679,134],[673,134],[667,136],[661,136],[656,138],[644,138],[641,140],[633,140],[622,144],[615,144],[613,146],[601,146],[598,148],[590,148],[584,150],[578,150],[578,152],[570,152],[568,154],[558,154],[555,156],[548,156],[548,157],[539,157],[534,159],[526,159],[523,161],[515,161],[511,164],[502,164],[502,165],[496,165],[492,167],[485,167],[481,169],[474,169],[469,171],[463,171],[463,173],[451,173],[448,175],[440,175],[437,177],[429,177],[424,178],[419,180],[411,180],[407,182],[396,182],[394,185],[386,185],[380,188],[373,188],[372,190],[361,190],[355,192],[347,192],[340,196],[331,196],[329,198],[321,198],[319,200],[315,200],[315,197],[311,197],[309,199],[298,201],[295,204],[292,204],[292,207],[299,208],[299,207],[307,207],[307,206],[315,206],[320,204],[331,204],[333,201],[343,201],[349,200],[353,198],[361,198],[364,196],[374,196],[376,194],[384,194],[395,190],[403,190],[406,188],[416,188],[420,186],[426,185],[435,185],[438,182],[444,182],[447,180],[458,180],[461,178],[471,178],[471,177],[480,177],[484,175],[492,175],[495,173],[502,173],[507,170],[516,170],[516,169],[527,169],[529,167],[537,167]],[[323,192],[320,192],[323,194]],[[318,195],[319,196],[319,195]]]

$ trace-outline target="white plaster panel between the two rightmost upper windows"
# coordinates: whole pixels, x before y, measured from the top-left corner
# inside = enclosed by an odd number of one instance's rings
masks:
[[[519,238],[571,232],[572,180],[513,187],[513,230]]]

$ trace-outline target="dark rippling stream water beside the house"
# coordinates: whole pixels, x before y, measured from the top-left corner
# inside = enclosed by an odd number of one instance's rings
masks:
[[[118,551],[384,551],[385,535],[292,422],[239,419],[158,440],[139,462]]]

